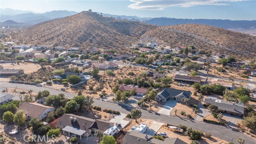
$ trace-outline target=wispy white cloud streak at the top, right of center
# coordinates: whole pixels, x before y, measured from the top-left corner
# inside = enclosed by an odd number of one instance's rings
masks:
[[[197,5],[229,5],[227,2],[238,2],[245,0],[130,0],[134,2],[128,6],[135,10],[163,10],[167,7],[191,7]]]

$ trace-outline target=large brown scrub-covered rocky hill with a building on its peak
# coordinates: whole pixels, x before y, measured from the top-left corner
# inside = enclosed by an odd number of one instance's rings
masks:
[[[115,48],[120,51],[128,50],[128,46],[138,42],[154,41],[169,46],[193,44],[206,50],[256,56],[255,36],[199,24],[154,26],[88,12],[35,24],[13,37],[23,44]]]

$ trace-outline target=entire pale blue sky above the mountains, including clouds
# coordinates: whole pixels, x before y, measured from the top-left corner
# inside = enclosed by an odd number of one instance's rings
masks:
[[[256,20],[256,0],[0,0],[0,8],[189,19]]]

